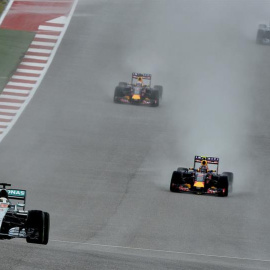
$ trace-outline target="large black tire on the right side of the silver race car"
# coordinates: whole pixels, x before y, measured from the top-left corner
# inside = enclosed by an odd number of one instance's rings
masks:
[[[50,216],[47,212],[40,210],[28,211],[28,216],[25,224],[26,242],[32,244],[47,245],[49,240]],[[30,232],[34,230],[38,233],[37,238],[33,238]],[[33,235],[35,235],[35,233]]]

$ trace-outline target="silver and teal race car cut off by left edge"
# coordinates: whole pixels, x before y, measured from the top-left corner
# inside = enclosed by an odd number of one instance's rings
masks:
[[[26,211],[26,190],[6,189],[11,186],[7,183],[0,183],[0,186],[0,239],[26,238],[27,243],[47,245],[49,213],[40,210]],[[11,199],[16,203],[11,202]]]

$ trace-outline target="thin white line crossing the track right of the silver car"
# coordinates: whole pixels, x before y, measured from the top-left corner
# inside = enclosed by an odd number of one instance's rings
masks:
[[[242,258],[242,257],[232,257],[232,256],[220,256],[212,254],[203,254],[203,253],[192,253],[192,252],[182,252],[182,251],[172,251],[172,250],[162,250],[162,249],[149,249],[149,248],[135,248],[135,247],[125,247],[125,246],[113,246],[113,245],[101,245],[101,244],[91,244],[83,242],[72,242],[72,241],[61,241],[61,240],[50,240],[52,242],[66,243],[66,244],[79,244],[79,245],[89,245],[105,248],[119,248],[119,249],[129,249],[129,250],[140,250],[140,251],[152,251],[152,252],[162,252],[170,254],[182,254],[182,255],[192,255],[192,256],[202,256],[202,257],[213,257],[218,259],[234,259],[242,261],[257,261],[257,262],[270,262],[270,260],[256,259],[256,258]]]

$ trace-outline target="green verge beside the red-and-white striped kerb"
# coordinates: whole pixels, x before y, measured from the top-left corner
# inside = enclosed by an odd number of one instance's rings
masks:
[[[16,70],[35,33],[0,29],[0,93]]]

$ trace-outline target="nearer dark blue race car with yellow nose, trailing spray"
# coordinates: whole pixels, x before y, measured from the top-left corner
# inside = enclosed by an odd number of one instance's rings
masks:
[[[196,168],[196,165],[201,165]],[[215,169],[209,169],[209,165]],[[180,167],[171,178],[171,192],[214,194],[227,197],[232,191],[233,173],[218,174],[219,158],[195,156],[193,168]]]

